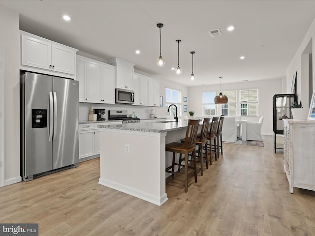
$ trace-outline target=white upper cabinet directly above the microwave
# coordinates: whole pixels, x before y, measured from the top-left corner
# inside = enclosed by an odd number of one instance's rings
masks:
[[[119,58],[107,60],[108,64],[115,66],[115,88],[133,90],[134,64]]]

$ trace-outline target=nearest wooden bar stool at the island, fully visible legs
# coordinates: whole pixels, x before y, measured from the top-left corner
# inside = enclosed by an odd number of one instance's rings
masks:
[[[185,192],[188,191],[188,154],[192,153],[193,160],[193,170],[195,182],[197,182],[197,168],[196,168],[196,138],[197,138],[197,129],[199,126],[199,119],[189,119],[188,126],[186,130],[185,143],[170,143],[165,145],[165,151],[173,152],[173,162],[170,167],[166,168],[167,173],[172,173],[174,176],[175,173],[175,153],[180,153],[185,155]],[[180,166],[179,166],[180,168]]]

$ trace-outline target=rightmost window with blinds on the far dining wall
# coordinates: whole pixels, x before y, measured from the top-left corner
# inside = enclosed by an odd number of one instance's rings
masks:
[[[257,116],[258,89],[240,90],[241,116]]]

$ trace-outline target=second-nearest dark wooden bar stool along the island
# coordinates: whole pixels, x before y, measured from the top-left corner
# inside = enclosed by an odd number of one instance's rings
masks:
[[[210,118],[204,118],[203,122],[202,122],[202,127],[201,127],[201,132],[200,134],[197,134],[197,138],[196,138],[196,146],[198,146],[198,151],[197,151],[197,156],[200,159],[200,175],[203,176],[203,162],[204,160],[206,161],[206,168],[209,169],[209,165],[208,165],[208,151],[205,151],[205,155],[203,155],[203,147],[205,146],[205,150],[207,150],[207,144],[208,144],[208,140],[207,140],[207,136],[208,136],[208,128],[209,128],[209,122],[210,122]],[[185,139],[181,139],[181,142],[184,143]],[[182,165],[182,161],[184,161],[184,158],[182,158],[182,155],[180,154],[180,158],[179,158],[179,169],[181,168]]]

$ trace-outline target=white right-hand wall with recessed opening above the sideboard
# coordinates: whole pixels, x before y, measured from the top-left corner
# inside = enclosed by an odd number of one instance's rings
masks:
[[[308,48],[308,45],[312,45],[311,48]],[[304,109],[309,109],[309,87],[308,87],[308,73],[307,66],[302,65],[302,59],[305,59],[306,52],[312,53],[313,61],[313,91],[315,90],[315,19],[308,29],[300,47],[298,48],[296,54],[291,60],[289,66],[286,69],[286,92],[291,91],[292,76],[297,71],[296,76],[296,87],[297,87],[297,96],[298,101],[302,101]],[[304,63],[303,63],[304,64]]]

